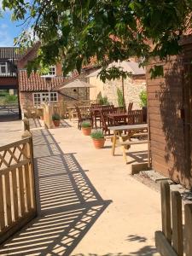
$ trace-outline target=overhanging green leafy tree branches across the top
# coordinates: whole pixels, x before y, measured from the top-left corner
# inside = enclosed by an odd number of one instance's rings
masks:
[[[116,67],[107,70],[112,61],[137,56],[145,65],[151,56],[177,55],[192,14],[190,0],[3,0],[3,8],[12,9],[13,19],[24,20],[33,32],[32,37],[24,30],[20,45],[32,45],[34,38],[41,42],[29,69],[55,64],[63,56],[64,74],[80,72],[96,57],[102,80],[122,78]]]

